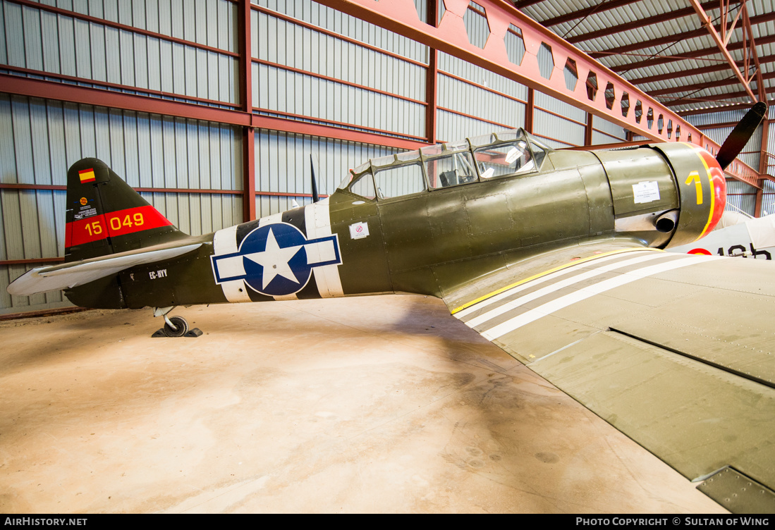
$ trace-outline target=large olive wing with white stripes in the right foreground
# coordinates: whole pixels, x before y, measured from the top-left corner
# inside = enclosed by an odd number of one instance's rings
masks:
[[[773,513],[772,274],[761,260],[573,246],[444,300],[725,508]]]

